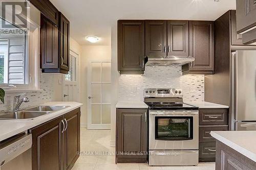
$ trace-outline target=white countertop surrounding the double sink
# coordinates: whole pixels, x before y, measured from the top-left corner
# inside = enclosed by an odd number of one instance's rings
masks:
[[[37,117],[33,120],[0,120],[0,141],[5,140],[16,134],[22,133],[24,131],[27,131],[33,127],[36,127],[42,123],[45,123],[53,118],[61,116],[82,106],[81,103],[77,102],[49,102],[43,105],[70,107]]]

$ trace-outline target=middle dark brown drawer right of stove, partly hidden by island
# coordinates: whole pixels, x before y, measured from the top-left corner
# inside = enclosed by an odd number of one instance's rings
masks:
[[[222,126],[199,126],[199,141],[200,142],[210,142],[210,141],[216,141],[215,138],[213,138],[210,135],[210,131],[227,131],[228,126],[222,125]]]

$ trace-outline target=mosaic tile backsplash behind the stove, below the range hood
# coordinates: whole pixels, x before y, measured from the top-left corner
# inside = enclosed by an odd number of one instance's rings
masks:
[[[181,88],[184,101],[204,101],[204,75],[181,76],[181,66],[146,66],[144,75],[120,75],[118,100],[143,101],[145,88]]]

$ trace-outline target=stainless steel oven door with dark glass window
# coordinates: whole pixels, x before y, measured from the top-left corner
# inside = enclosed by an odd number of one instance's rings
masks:
[[[150,150],[197,150],[198,111],[150,111]]]

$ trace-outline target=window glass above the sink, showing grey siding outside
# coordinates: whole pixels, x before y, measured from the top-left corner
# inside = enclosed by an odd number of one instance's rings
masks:
[[[0,22],[7,22],[0,18]],[[28,84],[28,32],[13,25],[0,34],[0,83]]]

